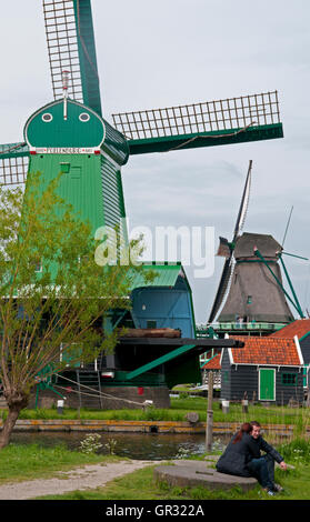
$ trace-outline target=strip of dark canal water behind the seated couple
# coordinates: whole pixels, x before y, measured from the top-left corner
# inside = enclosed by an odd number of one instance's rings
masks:
[[[179,434],[179,433],[100,433],[102,448],[99,453],[107,454],[109,449],[106,444],[114,442],[114,454],[137,460],[163,460],[180,456],[199,455],[206,452],[204,434]],[[39,444],[42,446],[66,445],[70,450],[78,450],[86,432],[40,432],[12,434],[11,442],[19,444]],[[213,440],[213,449],[224,449],[229,436],[217,436]]]

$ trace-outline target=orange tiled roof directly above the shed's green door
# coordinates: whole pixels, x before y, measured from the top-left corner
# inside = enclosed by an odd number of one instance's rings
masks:
[[[231,349],[234,364],[301,365],[292,338],[230,335],[244,342],[242,350]]]

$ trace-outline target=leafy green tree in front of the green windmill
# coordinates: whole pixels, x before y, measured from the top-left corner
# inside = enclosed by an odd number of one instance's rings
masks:
[[[130,274],[139,270],[94,261],[98,242],[57,194],[60,177],[44,184],[40,173],[29,174],[24,193],[0,188],[0,380],[8,403],[0,448],[42,370],[47,377],[68,359],[93,361],[113,349],[119,332],[102,335],[98,322],[130,308]]]

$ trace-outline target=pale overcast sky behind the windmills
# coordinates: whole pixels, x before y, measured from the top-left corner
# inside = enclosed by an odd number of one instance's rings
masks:
[[[0,143],[22,140],[27,118],[52,100],[40,0],[2,2]],[[309,0],[92,0],[103,116],[279,91],[284,138],[132,157],[123,168],[130,228],[214,227],[232,238],[249,160],[247,232],[310,258]],[[217,244],[216,244],[217,248]],[[212,277],[193,278],[197,322],[209,315]],[[303,309],[310,264],[286,258]]]

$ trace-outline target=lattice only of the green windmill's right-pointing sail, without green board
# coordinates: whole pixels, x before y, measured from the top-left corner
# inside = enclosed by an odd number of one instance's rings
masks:
[[[278,92],[112,114],[129,140],[218,132],[280,122]]]

